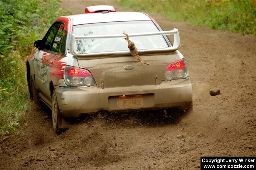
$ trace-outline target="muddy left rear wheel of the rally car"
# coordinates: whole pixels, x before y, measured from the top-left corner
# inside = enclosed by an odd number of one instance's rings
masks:
[[[52,126],[55,132],[58,134],[62,129],[63,117],[59,110],[57,96],[55,89],[52,92]]]

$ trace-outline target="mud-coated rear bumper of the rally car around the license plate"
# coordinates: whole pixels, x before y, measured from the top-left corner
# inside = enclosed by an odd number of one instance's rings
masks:
[[[98,88],[55,86],[60,112],[64,117],[95,113],[100,110],[128,111],[120,109],[118,96],[142,94],[144,106],[139,110],[180,107],[187,109],[192,103],[192,84],[187,79],[163,81],[159,85]],[[138,109],[137,109],[138,110]]]

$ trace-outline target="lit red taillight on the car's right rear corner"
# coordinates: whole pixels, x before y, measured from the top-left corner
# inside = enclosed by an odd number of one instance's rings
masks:
[[[189,75],[186,60],[183,58],[167,66],[163,80],[171,81],[175,79],[185,79]]]

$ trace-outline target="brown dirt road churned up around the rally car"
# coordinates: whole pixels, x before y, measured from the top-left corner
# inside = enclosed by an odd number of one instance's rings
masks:
[[[77,14],[98,4],[62,7]],[[56,135],[50,110],[34,108],[19,134],[0,141],[1,169],[200,169],[200,156],[256,156],[256,37],[151,16],[179,29],[193,111],[99,113]]]

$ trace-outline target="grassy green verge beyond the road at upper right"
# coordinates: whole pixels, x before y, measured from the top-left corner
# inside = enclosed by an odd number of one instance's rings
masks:
[[[255,0],[118,0],[124,7],[159,13],[171,20],[256,36]]]

